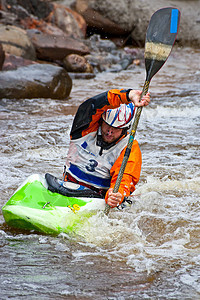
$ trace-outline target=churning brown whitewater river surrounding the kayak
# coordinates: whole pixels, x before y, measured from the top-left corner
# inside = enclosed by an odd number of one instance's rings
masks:
[[[200,299],[200,59],[174,48],[150,85],[136,138],[134,205],[73,234],[15,231],[0,212],[0,299]],[[141,89],[143,66],[73,80],[67,101],[0,101],[0,206],[28,175],[61,177],[78,105],[111,88]]]

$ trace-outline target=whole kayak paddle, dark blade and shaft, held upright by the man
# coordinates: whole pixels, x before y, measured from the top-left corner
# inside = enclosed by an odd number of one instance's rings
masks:
[[[151,17],[146,33],[145,40],[145,68],[146,80],[142,90],[140,100],[147,94],[152,77],[160,70],[168,56],[176,40],[180,21],[180,11],[174,7],[166,7],[157,10]],[[128,140],[127,148],[121,164],[121,168],[113,189],[117,193],[126,168],[126,164],[131,152],[138,122],[142,112],[142,107],[137,107],[131,133]],[[110,206],[106,204],[104,213],[108,215]]]

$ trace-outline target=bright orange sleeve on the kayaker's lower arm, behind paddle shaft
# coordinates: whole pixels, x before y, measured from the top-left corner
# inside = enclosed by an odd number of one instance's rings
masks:
[[[110,184],[111,188],[114,188],[115,186],[125,151],[126,148],[123,149],[120,156],[115,161],[114,165],[110,170],[110,175],[112,177],[111,184]],[[142,154],[138,142],[135,140],[133,142],[131,153],[118,190],[122,194],[122,201],[125,196],[128,197],[135,190],[135,185],[138,183],[140,178],[141,166],[142,166]],[[106,203],[107,203],[107,199],[108,199],[108,192],[106,193],[105,196]]]

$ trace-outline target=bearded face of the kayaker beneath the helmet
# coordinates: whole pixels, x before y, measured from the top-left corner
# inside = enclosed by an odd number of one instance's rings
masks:
[[[120,128],[114,128],[103,121],[101,125],[101,134],[104,142],[109,144],[114,142],[121,136],[122,130],[123,129]]]

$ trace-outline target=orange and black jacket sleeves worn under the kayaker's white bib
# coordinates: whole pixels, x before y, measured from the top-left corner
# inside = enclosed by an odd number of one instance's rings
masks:
[[[90,132],[97,131],[99,127],[99,120],[101,115],[108,108],[116,108],[120,104],[128,104],[130,99],[128,97],[130,90],[118,90],[113,89],[108,92],[104,92],[95,97],[92,97],[83,102],[75,115],[72,125],[70,137],[71,139],[78,139]],[[126,147],[121,151],[118,159],[110,170],[111,184],[110,187],[114,188],[117,180],[118,172],[124,157]],[[112,148],[110,149],[112,151]],[[141,151],[138,142],[133,142],[133,147],[122,177],[122,181],[119,187],[119,192],[124,196],[129,196],[135,190],[135,185],[139,181],[142,165]],[[108,193],[106,193],[105,200],[107,201]],[[123,201],[123,199],[122,199]]]

